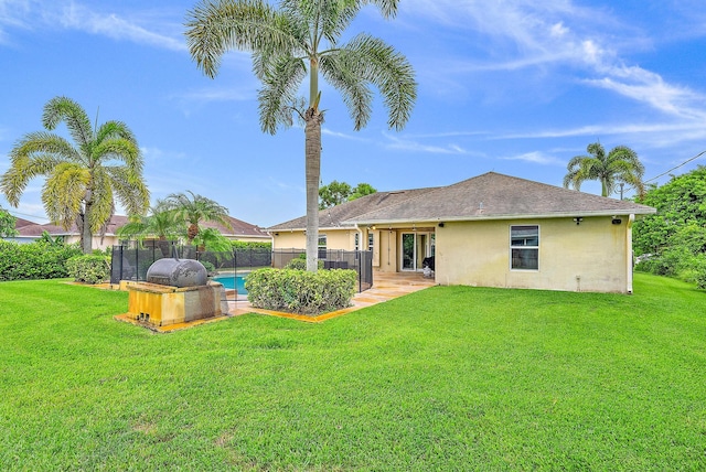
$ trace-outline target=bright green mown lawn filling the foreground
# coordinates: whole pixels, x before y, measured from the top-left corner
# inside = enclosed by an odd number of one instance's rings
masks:
[[[704,470],[706,293],[435,287],[170,334],[0,283],[0,470]]]

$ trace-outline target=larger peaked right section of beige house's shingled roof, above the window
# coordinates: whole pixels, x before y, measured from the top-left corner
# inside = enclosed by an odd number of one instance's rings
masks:
[[[350,217],[345,224],[644,215],[655,210],[495,172],[438,187],[395,205]]]

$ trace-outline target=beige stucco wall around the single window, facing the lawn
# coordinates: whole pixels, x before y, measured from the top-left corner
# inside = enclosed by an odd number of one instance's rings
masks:
[[[610,216],[446,223],[437,228],[436,281],[441,285],[568,291],[632,290],[630,218]],[[538,270],[510,268],[510,226],[539,226]]]

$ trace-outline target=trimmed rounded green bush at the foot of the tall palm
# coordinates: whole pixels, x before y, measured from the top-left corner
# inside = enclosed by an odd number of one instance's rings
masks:
[[[245,288],[255,308],[315,315],[350,307],[356,279],[355,270],[259,269]]]

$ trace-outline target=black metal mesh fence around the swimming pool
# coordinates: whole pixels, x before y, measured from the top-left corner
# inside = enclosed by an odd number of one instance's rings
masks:
[[[172,242],[154,242],[139,245],[130,242],[114,246],[110,260],[110,283],[120,280],[147,280],[147,269],[159,259],[178,257],[195,259],[213,266],[216,272],[246,273],[264,267],[282,268],[290,260],[306,254],[303,249],[233,248],[229,251],[200,251],[195,246],[178,245]],[[373,253],[370,250],[319,250],[323,269],[353,269],[357,273],[357,291],[373,286]]]

